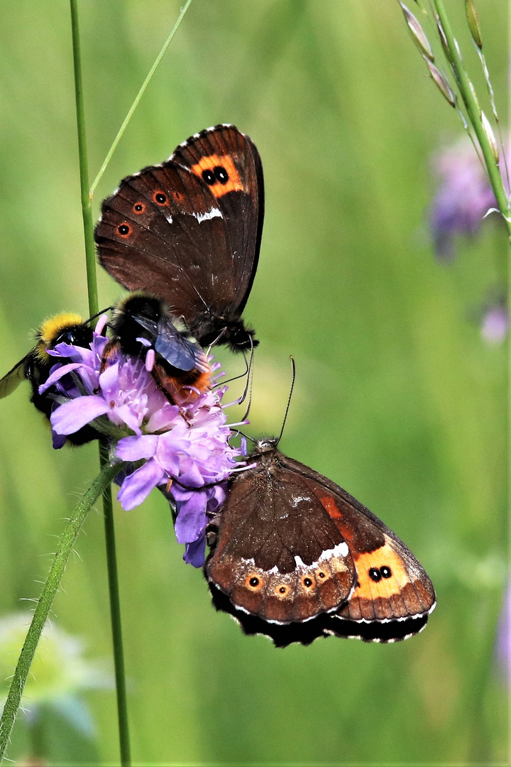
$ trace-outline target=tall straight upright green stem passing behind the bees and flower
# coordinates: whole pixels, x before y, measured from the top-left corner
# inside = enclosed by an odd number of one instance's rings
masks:
[[[87,262],[87,290],[90,314],[97,314],[97,278],[96,256],[94,249],[94,231],[92,222],[91,196],[89,193],[89,170],[87,163],[87,141],[85,137],[85,110],[80,61],[80,31],[78,28],[77,0],[70,0],[71,29],[73,37],[74,83],[77,104],[78,148],[80,158],[80,189],[82,215],[84,218],[85,258]],[[100,467],[104,472],[108,468],[108,448],[104,440],[100,441]],[[129,752],[128,709],[126,700],[126,679],[124,676],[124,656],[122,624],[120,617],[119,579],[117,577],[116,542],[113,528],[112,492],[110,486],[103,495],[103,515],[105,519],[106,568],[110,594],[110,621],[112,624],[113,658],[116,673],[117,721],[121,764],[131,764]]]

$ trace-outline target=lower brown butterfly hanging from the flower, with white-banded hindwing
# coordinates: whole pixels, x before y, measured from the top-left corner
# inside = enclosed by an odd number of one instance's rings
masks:
[[[414,555],[369,509],[277,439],[256,443],[208,527],[213,602],[279,647],[334,634],[392,642],[424,628],[435,594]]]

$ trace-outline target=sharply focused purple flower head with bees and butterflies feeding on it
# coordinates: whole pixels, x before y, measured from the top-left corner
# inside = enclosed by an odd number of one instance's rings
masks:
[[[193,390],[173,404],[145,360],[119,349],[105,360],[107,343],[95,332],[90,349],[55,347],[56,361],[64,357],[71,362],[57,363],[39,389],[58,392],[52,429],[67,435],[90,423],[105,434],[113,459],[127,464],[117,495],[123,509],[134,509],[153,488],[161,489],[175,505],[175,534],[185,544],[185,561],[201,567],[208,515],[223,504],[228,477],[240,465],[241,450],[229,445],[231,430],[221,404],[227,387]]]

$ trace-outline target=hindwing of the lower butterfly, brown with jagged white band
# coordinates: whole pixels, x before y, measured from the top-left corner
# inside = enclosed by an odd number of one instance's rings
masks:
[[[278,457],[268,466],[266,457],[238,474],[212,522],[206,578],[236,611],[272,624],[310,621],[346,601],[355,568],[339,528],[302,476]]]

